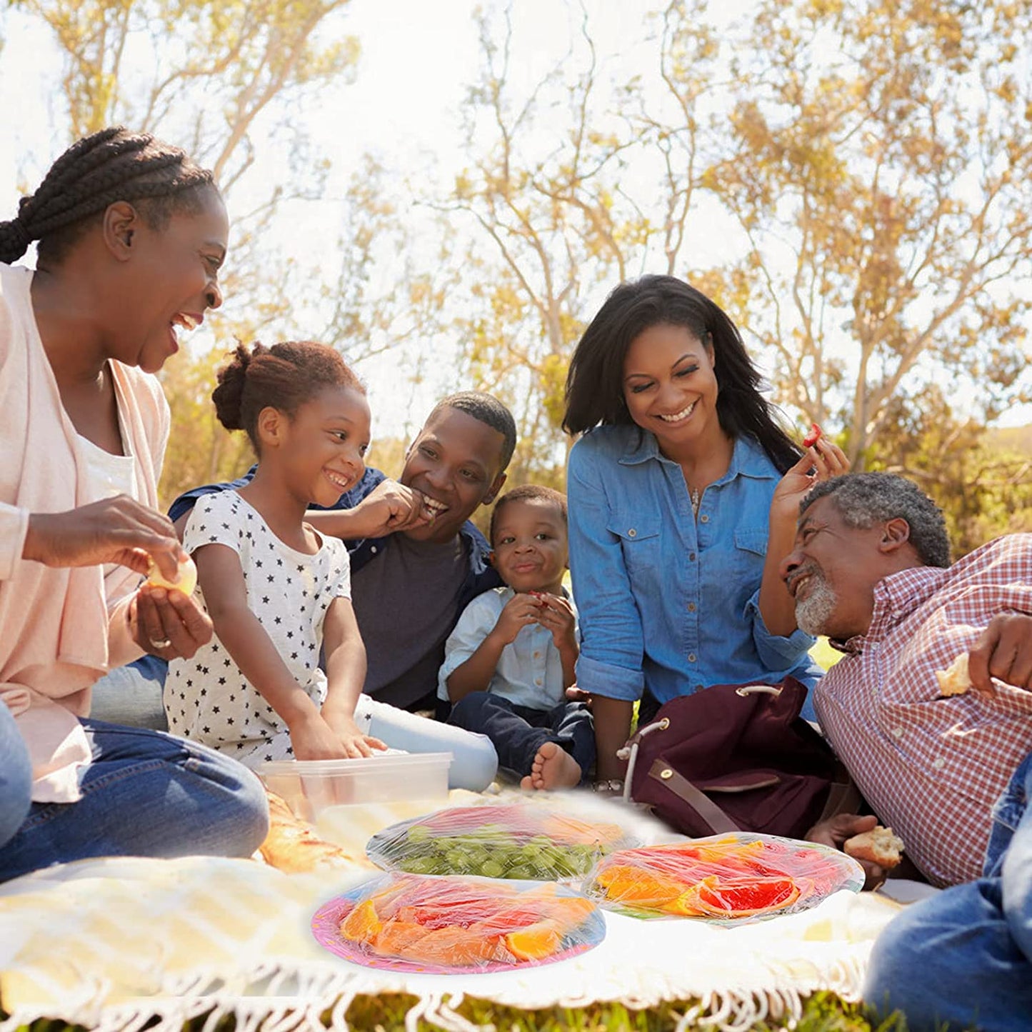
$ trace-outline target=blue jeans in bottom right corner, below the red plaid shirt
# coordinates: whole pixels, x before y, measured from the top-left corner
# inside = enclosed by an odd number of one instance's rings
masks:
[[[871,954],[864,999],[910,1032],[1032,1028],[1032,755],[993,809],[982,876],[909,907]]]

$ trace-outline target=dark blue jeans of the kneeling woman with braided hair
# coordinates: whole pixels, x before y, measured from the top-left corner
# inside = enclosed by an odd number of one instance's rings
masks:
[[[0,881],[90,857],[250,857],[268,829],[258,778],[206,746],[82,721],[93,762],[75,803],[33,803],[0,849]]]

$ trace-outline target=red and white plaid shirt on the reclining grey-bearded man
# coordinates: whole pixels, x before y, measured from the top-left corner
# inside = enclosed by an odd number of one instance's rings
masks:
[[[816,688],[835,751],[938,885],[979,876],[993,803],[1032,752],[1032,692],[998,681],[991,698],[941,699],[935,677],[1004,612],[1032,614],[1032,535],[884,578],[870,630]]]

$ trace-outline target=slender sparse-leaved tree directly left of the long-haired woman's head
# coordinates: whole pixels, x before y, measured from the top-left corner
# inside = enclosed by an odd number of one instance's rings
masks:
[[[473,160],[438,205],[479,231],[456,326],[470,376],[517,413],[514,482],[531,471],[561,482],[563,385],[588,305],[645,271],[650,249],[673,268],[696,186],[691,140],[645,110],[638,78],[603,73],[584,9],[568,9],[569,49],[529,87],[517,74],[511,8],[478,14],[483,66],[465,109]],[[701,84],[707,69],[696,70]],[[658,217],[631,187],[642,175],[669,184]]]

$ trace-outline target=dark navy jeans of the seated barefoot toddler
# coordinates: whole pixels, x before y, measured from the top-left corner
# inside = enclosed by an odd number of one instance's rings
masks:
[[[471,691],[452,707],[448,722],[486,735],[497,750],[498,766],[517,777],[530,773],[545,742],[555,742],[577,761],[582,780],[594,766],[594,724],[584,703],[536,710],[490,691]]]

